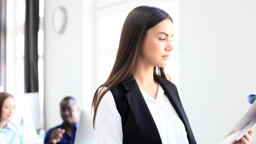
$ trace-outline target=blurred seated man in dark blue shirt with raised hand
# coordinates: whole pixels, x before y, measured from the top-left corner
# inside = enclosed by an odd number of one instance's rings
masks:
[[[63,123],[48,130],[44,144],[74,144],[77,130],[77,107],[76,100],[66,97],[60,102],[60,115]]]

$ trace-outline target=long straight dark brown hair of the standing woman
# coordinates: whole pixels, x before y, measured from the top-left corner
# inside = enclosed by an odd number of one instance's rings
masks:
[[[122,28],[115,64],[107,81],[97,88],[93,96],[93,127],[103,95],[123,81],[133,79],[148,29],[165,19],[172,21],[170,15],[164,10],[149,6],[136,7],[128,14]],[[154,67],[154,72],[156,72],[156,67]],[[166,78],[163,67],[158,67],[158,75]],[[103,89],[103,87],[106,88]]]

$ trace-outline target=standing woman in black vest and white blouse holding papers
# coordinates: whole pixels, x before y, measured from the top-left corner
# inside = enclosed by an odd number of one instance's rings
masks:
[[[112,72],[93,98],[97,144],[196,144],[165,74],[173,35],[172,18],[162,9],[140,6],[128,14]]]

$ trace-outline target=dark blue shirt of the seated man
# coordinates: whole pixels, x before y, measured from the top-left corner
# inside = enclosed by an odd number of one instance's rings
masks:
[[[60,142],[57,142],[57,144],[74,144],[74,140],[75,140],[75,137],[76,137],[77,126],[78,126],[78,122],[75,124],[75,126],[73,128],[73,132],[72,132],[71,137],[67,134],[67,130],[66,130],[65,133],[63,134],[62,139],[60,139]],[[54,128],[51,128],[50,130],[48,130],[48,132],[46,133],[45,138],[44,138],[44,144],[49,144],[50,135],[52,134],[53,130],[55,130],[57,128],[65,129],[63,127],[63,123],[62,123],[61,125],[58,125]]]

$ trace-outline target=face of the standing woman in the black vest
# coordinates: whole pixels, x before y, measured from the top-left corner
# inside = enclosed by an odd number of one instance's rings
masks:
[[[146,67],[165,67],[170,51],[173,49],[172,36],[173,26],[170,19],[165,19],[150,28],[142,46],[142,64]]]

